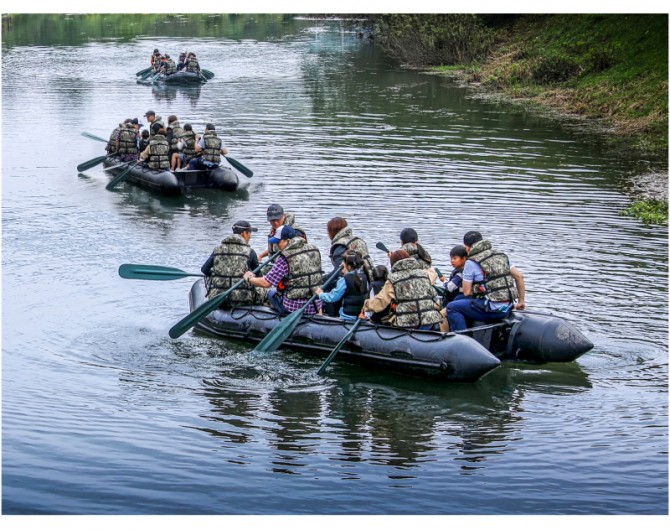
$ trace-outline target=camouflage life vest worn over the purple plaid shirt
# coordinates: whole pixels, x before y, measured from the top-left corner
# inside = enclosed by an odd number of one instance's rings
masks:
[[[294,237],[282,255],[288,261],[284,296],[291,299],[310,298],[314,294],[313,289],[323,284],[319,249],[301,237]]]

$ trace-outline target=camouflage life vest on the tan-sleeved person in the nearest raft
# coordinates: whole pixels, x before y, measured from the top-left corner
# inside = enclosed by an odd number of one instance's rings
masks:
[[[428,273],[414,258],[397,261],[389,281],[395,292],[395,325],[401,328],[418,328],[442,321],[442,315],[435,309],[435,290]]]

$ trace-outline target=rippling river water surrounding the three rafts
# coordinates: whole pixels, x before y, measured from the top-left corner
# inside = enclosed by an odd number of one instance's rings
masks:
[[[196,51],[199,90],[135,83]],[[288,16],[15,16],[2,49],[4,514],[667,514],[668,233],[624,217],[635,161],[337,23]],[[254,170],[229,196],[105,190],[107,137],[152,109],[217,125]],[[146,123],[146,122],[145,122]],[[411,380],[168,329],[235,220],[281,203],[327,256],[343,216],[373,249],[414,227],[443,271],[480,230],[529,310],[595,348],[475,384]],[[327,264],[326,264],[327,265]]]

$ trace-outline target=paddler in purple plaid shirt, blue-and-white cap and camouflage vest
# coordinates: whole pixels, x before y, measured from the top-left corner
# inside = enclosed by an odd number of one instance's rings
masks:
[[[292,313],[304,307],[323,283],[321,253],[288,225],[280,227],[268,242],[276,244],[280,251],[272,269],[261,278],[246,273],[245,279],[252,285],[271,289],[268,301],[279,314]],[[305,308],[306,315],[315,313],[321,313],[318,298]]]

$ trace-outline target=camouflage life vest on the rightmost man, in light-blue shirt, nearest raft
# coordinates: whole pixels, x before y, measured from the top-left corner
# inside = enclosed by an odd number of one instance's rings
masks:
[[[491,302],[511,302],[519,298],[507,255],[493,250],[490,241],[484,239],[472,245],[468,259],[479,264],[484,272],[484,281],[472,284],[473,296]]]

